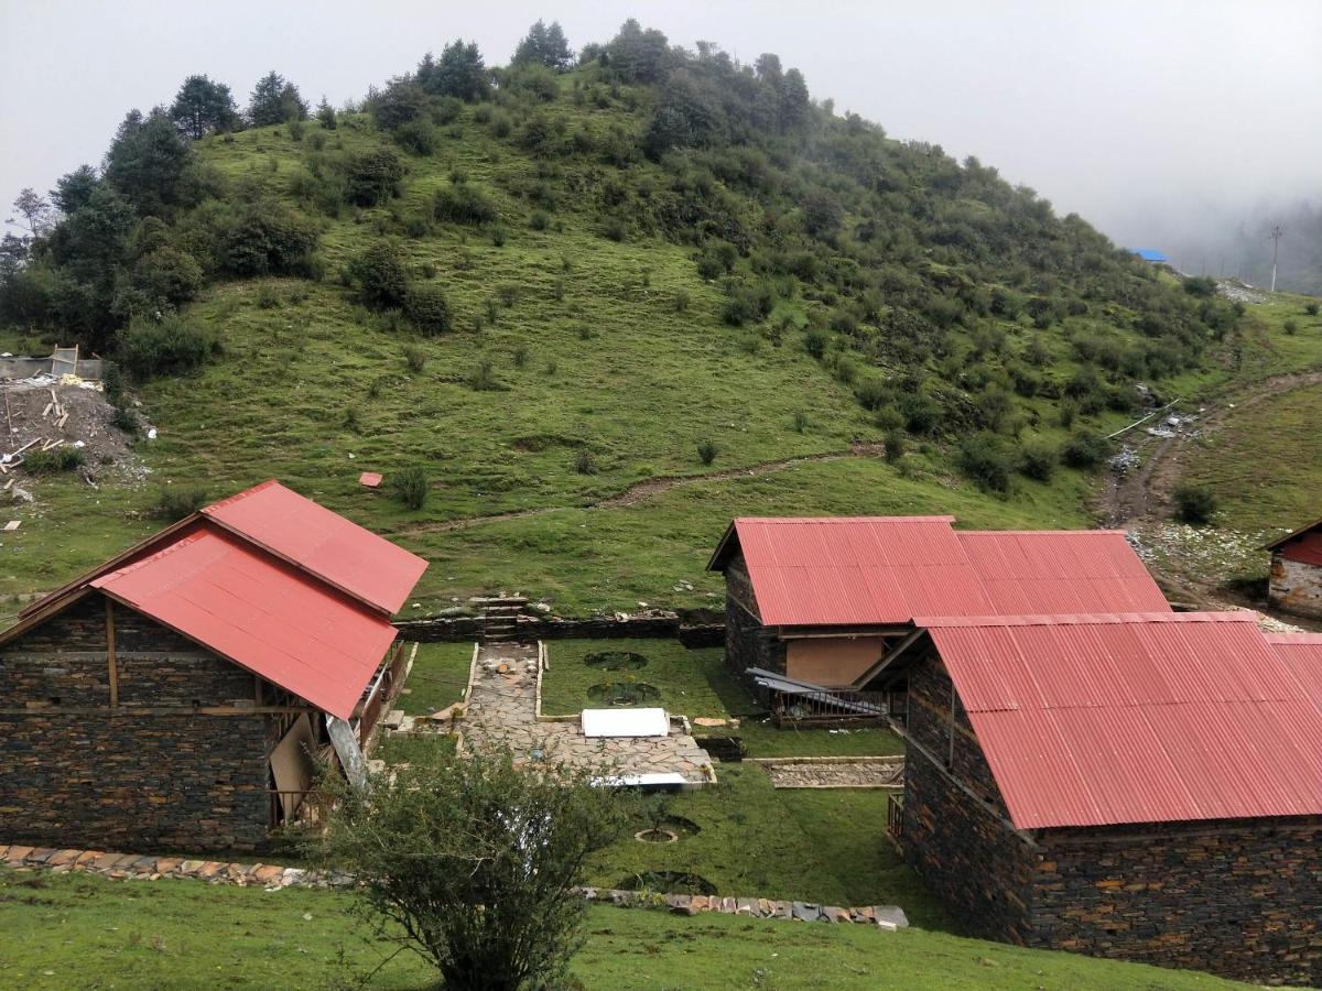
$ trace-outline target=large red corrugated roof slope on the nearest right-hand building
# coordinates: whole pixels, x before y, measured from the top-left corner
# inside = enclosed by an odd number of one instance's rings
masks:
[[[915,622],[1019,828],[1322,814],[1322,707],[1248,613]]]

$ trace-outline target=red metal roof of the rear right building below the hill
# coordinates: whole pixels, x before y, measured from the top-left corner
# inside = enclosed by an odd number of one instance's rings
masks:
[[[736,519],[763,622],[861,626],[914,616],[1169,610],[1124,534],[956,531],[953,517]]]

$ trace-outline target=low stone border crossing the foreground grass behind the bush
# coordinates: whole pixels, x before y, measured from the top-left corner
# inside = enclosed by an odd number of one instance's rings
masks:
[[[50,873],[94,873],[111,880],[156,881],[163,877],[190,879],[208,884],[233,884],[239,888],[352,888],[356,881],[344,871],[312,871],[263,863],[223,863],[189,860],[177,856],[143,856],[100,850],[53,850],[49,847],[0,846],[0,864],[15,871],[49,871]],[[657,895],[654,892],[620,891],[617,888],[578,888],[592,902],[619,908],[666,908],[680,916],[717,912],[723,916],[781,918],[800,922],[861,922],[886,932],[908,928],[908,918],[898,905],[863,905],[841,908],[813,901],[780,901],[772,899],[731,899],[718,895]]]

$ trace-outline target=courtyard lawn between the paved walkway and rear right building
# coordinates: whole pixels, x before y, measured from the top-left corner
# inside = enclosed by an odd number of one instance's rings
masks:
[[[604,703],[588,690],[602,682],[645,683],[660,696],[641,706],[661,706],[669,712],[715,719],[739,717],[738,729],[715,729],[743,739],[750,757],[812,757],[903,753],[904,741],[888,729],[866,727],[836,731],[812,728],[777,729],[760,706],[724,666],[722,647],[689,650],[673,640],[553,640],[547,641],[550,667],[542,677],[542,712],[571,715]],[[646,665],[607,671],[584,662],[599,653],[637,654]],[[703,735],[702,727],[694,727]]]

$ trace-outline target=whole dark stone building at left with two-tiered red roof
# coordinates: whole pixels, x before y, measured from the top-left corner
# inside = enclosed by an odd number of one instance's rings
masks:
[[[361,760],[424,567],[266,482],[33,603],[0,633],[0,839],[260,848],[313,756]]]

